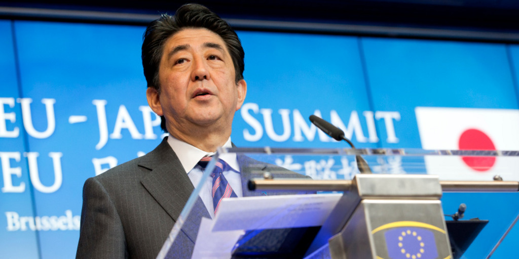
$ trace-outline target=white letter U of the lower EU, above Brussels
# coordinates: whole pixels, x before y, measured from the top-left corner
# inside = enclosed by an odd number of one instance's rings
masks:
[[[33,184],[36,190],[42,193],[53,193],[60,189],[61,183],[63,182],[63,173],[61,170],[61,157],[63,156],[63,153],[49,152],[49,157],[52,158],[52,165],[54,167],[54,183],[51,186],[45,186],[40,181],[37,162],[37,157],[39,156],[39,153],[26,152],[24,153],[24,155],[27,157],[28,160],[31,183]]]

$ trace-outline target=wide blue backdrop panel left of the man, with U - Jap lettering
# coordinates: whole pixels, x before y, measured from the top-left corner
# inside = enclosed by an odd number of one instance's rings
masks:
[[[144,27],[16,21],[15,29],[23,94],[16,108],[24,111],[35,208],[53,220],[40,231],[41,255],[72,258],[85,180],[161,140],[146,101]]]

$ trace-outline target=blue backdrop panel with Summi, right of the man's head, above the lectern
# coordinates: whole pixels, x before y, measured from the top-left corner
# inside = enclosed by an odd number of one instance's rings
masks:
[[[345,36],[239,32],[247,98],[235,116],[240,147],[347,147],[308,120],[342,127],[362,147],[376,147],[358,39]],[[316,131],[317,130],[317,131]]]

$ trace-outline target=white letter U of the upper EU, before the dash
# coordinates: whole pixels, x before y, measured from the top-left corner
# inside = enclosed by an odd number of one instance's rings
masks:
[[[54,104],[56,99],[43,98],[42,103],[45,104],[47,112],[47,129],[44,132],[38,132],[34,128],[31,113],[31,98],[19,98],[18,102],[22,106],[22,119],[25,131],[35,138],[48,138],[56,129],[56,118],[54,116]]]

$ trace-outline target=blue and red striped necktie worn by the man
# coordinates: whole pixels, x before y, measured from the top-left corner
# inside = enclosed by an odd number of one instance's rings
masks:
[[[211,156],[204,156],[200,162],[198,162],[198,165],[200,165],[202,169],[206,169],[206,166],[209,164],[211,159]],[[236,193],[234,193],[233,188],[231,188],[229,182],[227,182],[224,177],[223,172],[228,169],[229,165],[225,163],[225,161],[218,159],[214,166],[213,172],[211,173],[211,177],[213,178],[212,196],[214,215],[216,215],[223,198],[238,197]]]

